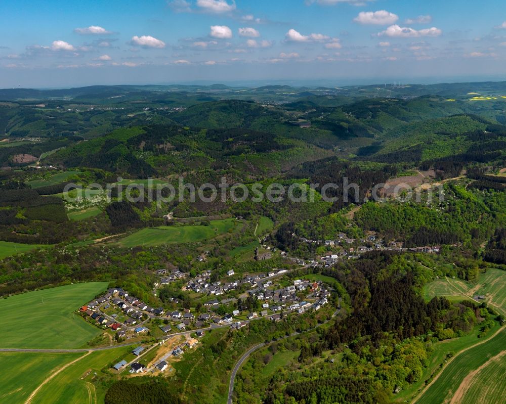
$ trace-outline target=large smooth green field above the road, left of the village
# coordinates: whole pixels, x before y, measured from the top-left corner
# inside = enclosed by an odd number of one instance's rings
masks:
[[[73,311],[107,288],[106,282],[79,283],[0,300],[1,348],[77,348],[101,333]]]

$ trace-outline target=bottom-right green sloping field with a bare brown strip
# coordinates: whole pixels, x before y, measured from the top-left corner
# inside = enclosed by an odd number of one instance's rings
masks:
[[[504,356],[501,358],[498,355],[504,353],[505,346],[506,330],[503,328],[485,343],[473,346],[456,356],[416,402],[418,404],[471,402],[471,399],[476,398],[478,393],[481,400],[484,400],[482,402],[502,404],[506,385],[500,382],[503,376],[498,372],[504,367]],[[489,369],[488,367],[491,365],[493,368]],[[490,377],[495,380],[492,385],[487,385],[486,381]],[[471,387],[473,387],[472,390]],[[488,387],[498,390],[499,394],[483,395],[483,389]],[[465,398],[466,396],[468,397]],[[450,401],[452,397],[454,401]]]

